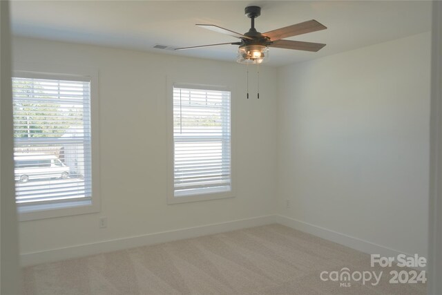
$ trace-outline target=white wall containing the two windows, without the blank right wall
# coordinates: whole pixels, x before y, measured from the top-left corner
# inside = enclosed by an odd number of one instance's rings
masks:
[[[247,100],[245,68],[235,62],[23,38],[14,39],[13,58],[99,70],[102,211],[20,222],[21,254],[275,213],[276,69],[261,68],[260,99]],[[228,83],[236,91],[236,198],[166,203],[166,75],[193,77],[195,83],[211,77],[213,84]],[[107,216],[106,229],[99,229],[99,216]],[[133,245],[129,240],[125,246]],[[50,260],[46,254],[44,260]],[[64,251],[58,258],[68,255]]]

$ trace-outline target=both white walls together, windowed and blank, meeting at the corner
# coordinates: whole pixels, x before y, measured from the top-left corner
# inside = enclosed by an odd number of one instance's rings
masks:
[[[25,264],[274,213],[347,245],[426,256],[429,33],[263,67],[259,100],[245,99],[245,69],[235,63],[25,38],[13,45],[15,61],[99,70],[102,211],[21,222]],[[166,75],[233,85],[236,198],[166,204]]]

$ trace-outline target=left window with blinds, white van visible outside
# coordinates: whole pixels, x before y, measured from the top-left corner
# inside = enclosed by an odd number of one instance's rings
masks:
[[[25,214],[21,220],[97,211],[90,99],[90,77],[17,73],[12,78],[15,198],[19,213]],[[26,217],[39,211],[51,213]]]

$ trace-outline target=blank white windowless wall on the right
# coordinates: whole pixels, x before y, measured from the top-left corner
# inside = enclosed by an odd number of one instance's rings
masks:
[[[426,256],[430,33],[285,66],[278,89],[280,214]]]

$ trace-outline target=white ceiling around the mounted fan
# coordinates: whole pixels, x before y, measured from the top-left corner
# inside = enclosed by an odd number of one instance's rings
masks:
[[[258,31],[267,32],[316,19],[327,30],[287,39],[325,43],[318,53],[270,48],[271,66],[282,66],[378,44],[430,30],[430,1],[12,1],[12,32],[84,44],[156,53],[236,60],[236,46],[159,50],[155,44],[184,47],[238,39],[198,28],[211,23],[244,33],[249,5],[261,6]]]

